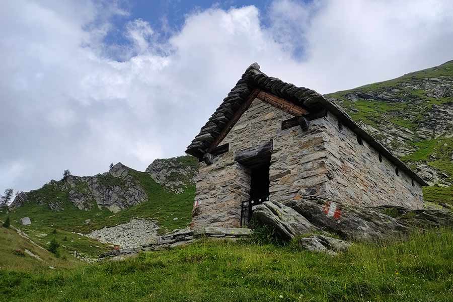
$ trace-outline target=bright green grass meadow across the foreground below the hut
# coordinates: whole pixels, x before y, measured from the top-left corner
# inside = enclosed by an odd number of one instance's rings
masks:
[[[0,271],[8,301],[451,301],[453,232],[354,244],[335,257],[274,245],[202,241],[123,262]]]

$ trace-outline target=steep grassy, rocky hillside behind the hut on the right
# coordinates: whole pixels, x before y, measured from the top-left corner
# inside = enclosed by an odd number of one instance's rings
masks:
[[[327,97],[453,203],[453,61]]]

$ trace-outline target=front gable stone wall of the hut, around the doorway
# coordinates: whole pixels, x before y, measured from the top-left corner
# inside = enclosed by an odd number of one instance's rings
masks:
[[[323,124],[312,121],[304,132],[300,127],[281,130],[281,121],[292,116],[255,99],[220,144],[229,143],[229,152],[214,158],[212,165],[200,164],[192,226],[237,227],[241,203],[250,198],[250,170],[234,161],[239,150],[273,139],[269,169],[272,200],[317,194],[328,181],[327,153]]]

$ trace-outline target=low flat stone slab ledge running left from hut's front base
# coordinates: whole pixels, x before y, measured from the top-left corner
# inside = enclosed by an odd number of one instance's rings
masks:
[[[248,238],[252,230],[246,228],[219,228],[216,226],[205,226],[199,230],[179,230],[175,233],[153,238],[139,247],[109,251],[99,255],[98,259],[120,258],[121,256],[133,255],[142,251],[158,251],[172,249],[175,247],[190,244],[202,238],[212,240],[238,240]]]

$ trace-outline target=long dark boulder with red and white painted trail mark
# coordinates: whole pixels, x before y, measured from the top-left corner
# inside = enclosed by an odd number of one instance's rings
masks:
[[[312,196],[283,203],[322,230],[346,240],[376,242],[406,237],[411,230],[376,208],[357,207]]]

